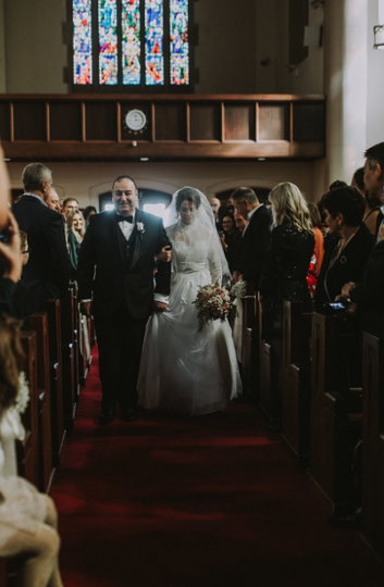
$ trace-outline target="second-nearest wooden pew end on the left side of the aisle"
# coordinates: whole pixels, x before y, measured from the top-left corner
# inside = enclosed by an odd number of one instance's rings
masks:
[[[52,465],[51,390],[47,312],[29,316],[29,326],[37,336],[37,387],[39,398],[39,489],[49,494],[54,470]]]

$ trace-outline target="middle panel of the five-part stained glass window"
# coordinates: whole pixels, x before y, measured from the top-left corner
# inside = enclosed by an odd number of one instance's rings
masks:
[[[123,85],[141,82],[140,0],[122,1]]]

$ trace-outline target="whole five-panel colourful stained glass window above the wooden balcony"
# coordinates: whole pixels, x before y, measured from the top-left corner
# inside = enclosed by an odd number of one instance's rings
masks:
[[[75,86],[190,84],[189,0],[67,1]]]

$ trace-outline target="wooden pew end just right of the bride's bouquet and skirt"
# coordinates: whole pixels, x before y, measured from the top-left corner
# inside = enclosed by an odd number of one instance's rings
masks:
[[[241,298],[241,375],[243,388],[248,398],[258,401],[259,397],[259,312],[258,292],[251,283],[247,284],[247,295]]]

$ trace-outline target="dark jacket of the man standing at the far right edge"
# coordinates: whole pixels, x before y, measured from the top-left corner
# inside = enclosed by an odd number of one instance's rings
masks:
[[[361,304],[362,329],[384,340],[384,240],[375,245],[350,299]]]

